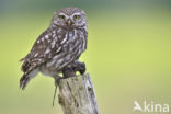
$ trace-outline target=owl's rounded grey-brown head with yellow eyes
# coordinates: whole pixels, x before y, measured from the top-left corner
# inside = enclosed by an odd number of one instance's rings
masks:
[[[87,26],[86,13],[78,8],[64,8],[54,13],[52,25],[75,29]]]

